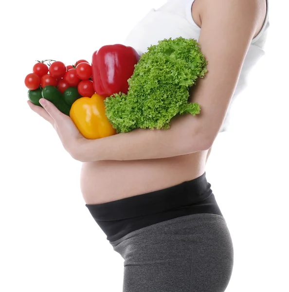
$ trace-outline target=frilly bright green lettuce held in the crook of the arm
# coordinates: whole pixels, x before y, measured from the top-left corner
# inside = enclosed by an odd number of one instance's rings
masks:
[[[127,95],[119,92],[104,100],[108,121],[121,133],[168,129],[177,114],[199,114],[199,104],[188,103],[189,89],[205,76],[206,65],[196,39],[160,40],[135,65]]]

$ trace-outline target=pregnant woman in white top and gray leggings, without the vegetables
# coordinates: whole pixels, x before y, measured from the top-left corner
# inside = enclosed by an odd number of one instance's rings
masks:
[[[125,45],[143,54],[164,38],[195,38],[208,61],[189,98],[201,113],[177,115],[167,130],[87,140],[49,101],[40,100],[44,108],[28,102],[83,162],[86,207],[124,258],[124,292],[226,290],[233,243],[205,166],[232,101],[264,55],[268,27],[268,0],[168,0],[148,11]]]

